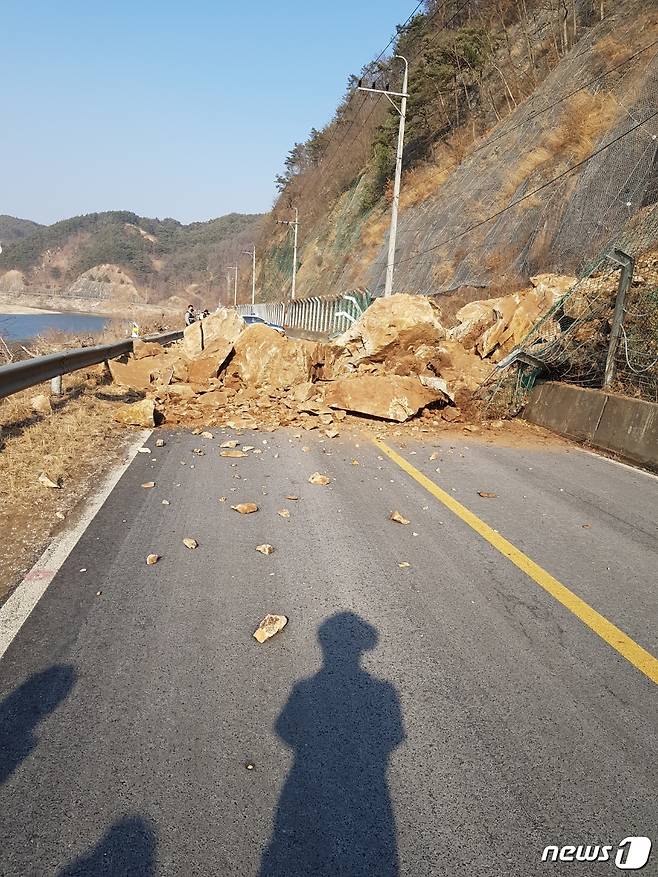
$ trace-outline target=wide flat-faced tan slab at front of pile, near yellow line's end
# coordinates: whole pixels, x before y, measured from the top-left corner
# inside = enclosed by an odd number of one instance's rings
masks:
[[[333,381],[325,390],[330,408],[368,414],[402,423],[432,402],[448,401],[436,388],[425,387],[416,377],[357,375]]]

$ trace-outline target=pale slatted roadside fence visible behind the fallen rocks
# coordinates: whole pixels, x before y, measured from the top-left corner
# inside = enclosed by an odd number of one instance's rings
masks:
[[[288,302],[262,302],[236,305],[241,316],[254,314],[286,329],[302,329],[323,335],[345,332],[370,305],[367,290],[345,293],[334,298],[298,298]]]

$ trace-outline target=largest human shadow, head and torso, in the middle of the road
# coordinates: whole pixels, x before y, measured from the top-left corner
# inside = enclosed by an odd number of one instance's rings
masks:
[[[361,667],[377,631],[358,615],[325,621],[322,668],[298,682],[276,722],[294,750],[260,877],[397,877],[391,752],[404,740],[390,682]]]

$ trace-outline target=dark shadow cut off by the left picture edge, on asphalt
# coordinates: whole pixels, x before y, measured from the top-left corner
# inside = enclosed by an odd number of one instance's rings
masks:
[[[70,664],[54,664],[33,673],[0,701],[0,785],[35,748],[36,726],[68,697],[75,680]]]

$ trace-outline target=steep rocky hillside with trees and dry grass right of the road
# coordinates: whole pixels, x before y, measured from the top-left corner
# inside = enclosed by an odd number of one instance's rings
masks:
[[[651,0],[428,3],[410,61],[395,289],[522,288],[577,272],[658,199],[658,10]],[[387,55],[388,57],[388,55]],[[364,84],[396,87],[379,59]],[[300,211],[297,289],[383,289],[398,116],[350,80],[296,144],[273,218]],[[289,290],[291,235],[267,221],[265,297]]]

